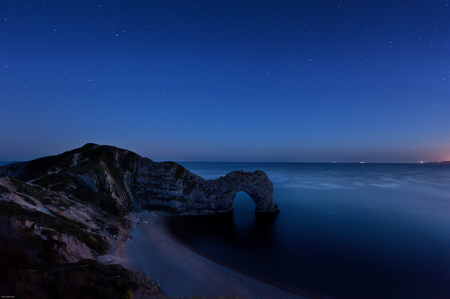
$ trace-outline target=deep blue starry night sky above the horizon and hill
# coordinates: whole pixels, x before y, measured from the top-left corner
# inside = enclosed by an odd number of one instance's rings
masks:
[[[450,160],[449,1],[0,1],[0,160]]]

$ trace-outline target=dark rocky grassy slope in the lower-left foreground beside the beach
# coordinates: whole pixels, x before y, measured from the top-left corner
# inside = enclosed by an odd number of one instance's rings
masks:
[[[127,222],[95,205],[14,178],[0,178],[0,294],[161,298],[159,288],[146,287],[139,273],[97,261],[130,227]]]

